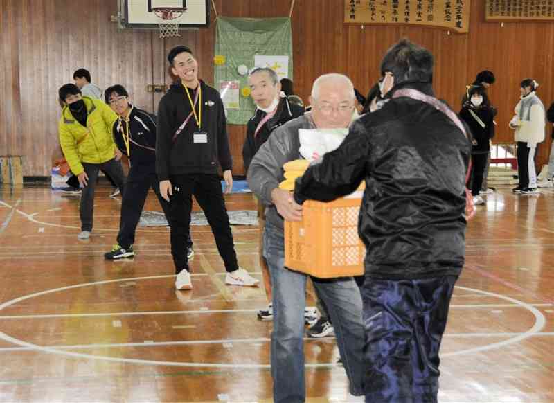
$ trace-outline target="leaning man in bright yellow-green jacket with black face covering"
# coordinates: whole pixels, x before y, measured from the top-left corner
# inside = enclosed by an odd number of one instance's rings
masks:
[[[80,203],[81,232],[77,238],[88,239],[92,231],[94,188],[98,171],[104,170],[121,192],[125,179],[118,160],[120,153],[111,136],[117,115],[104,102],[82,96],[75,84],[65,84],[58,91],[63,103],[60,118],[60,145],[69,168],[82,188]]]

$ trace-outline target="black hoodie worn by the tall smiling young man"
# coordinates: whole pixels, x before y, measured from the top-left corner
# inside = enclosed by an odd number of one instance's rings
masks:
[[[183,84],[173,84],[158,105],[158,135],[156,141],[156,172],[160,181],[179,174],[217,174],[217,163],[222,170],[231,170],[232,159],[225,120],[225,109],[220,93],[199,80],[202,89],[202,127],[191,116],[184,129],[177,129],[192,112]],[[198,88],[190,90],[194,100]],[[198,107],[195,108],[198,113]],[[194,132],[206,132],[207,143],[194,143]]]

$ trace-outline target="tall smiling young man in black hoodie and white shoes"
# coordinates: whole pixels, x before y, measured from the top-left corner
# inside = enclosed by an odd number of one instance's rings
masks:
[[[229,285],[258,285],[259,280],[239,267],[217,165],[221,165],[226,192],[231,192],[232,161],[223,102],[214,88],[198,79],[198,63],[186,46],[168,54],[172,84],[158,106],[156,172],[161,196],[170,202],[171,254],[177,289],[191,289],[188,259],[181,247],[190,229],[192,196],[204,210]]]

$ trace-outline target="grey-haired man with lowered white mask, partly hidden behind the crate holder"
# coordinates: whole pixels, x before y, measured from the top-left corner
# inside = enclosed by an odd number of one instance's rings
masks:
[[[248,83],[251,89],[251,97],[256,104],[256,113],[247,123],[247,138],[242,146],[242,161],[244,172],[248,171],[250,161],[267,141],[271,132],[277,127],[287,123],[289,120],[298,118],[304,114],[304,108],[289,102],[287,96],[281,97],[281,83],[285,82],[292,91],[292,81],[281,80],[277,73],[269,67],[258,67],[251,71]],[[285,95],[289,95],[285,92]],[[260,267],[264,281],[265,293],[268,301],[271,301],[271,276],[267,268],[267,262],[262,254],[263,229],[265,227],[265,206],[258,201],[258,215],[260,222]],[[267,309],[259,310],[257,316],[262,321],[273,319],[273,307],[271,303]]]

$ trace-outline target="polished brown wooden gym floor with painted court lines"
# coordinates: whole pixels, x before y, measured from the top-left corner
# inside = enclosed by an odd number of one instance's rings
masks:
[[[78,198],[0,188],[0,402],[270,402],[262,288],[224,285],[208,227],[193,227],[194,289],[176,292],[167,228],[140,229],[133,260],[105,261],[120,200],[100,188],[79,241]],[[442,348],[440,402],[554,402],[554,190],[486,197]],[[229,210],[255,208],[231,195]],[[151,194],[146,208],[157,210]],[[260,276],[258,229],[234,226]],[[334,339],[309,340],[308,402],[346,402]]]

